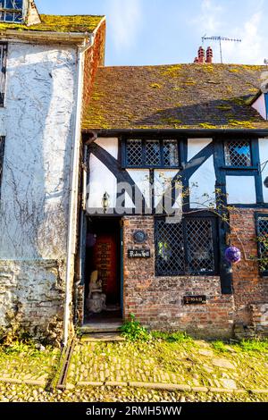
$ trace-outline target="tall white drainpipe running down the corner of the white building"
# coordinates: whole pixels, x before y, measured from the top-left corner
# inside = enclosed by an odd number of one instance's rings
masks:
[[[82,112],[83,96],[83,75],[84,75],[84,53],[93,45],[93,37],[89,38],[89,43],[84,42],[84,46],[78,50],[78,92],[74,127],[74,144],[71,155],[71,175],[70,175],[70,205],[68,214],[68,233],[67,233],[67,256],[66,256],[66,276],[65,276],[65,301],[63,317],[63,346],[66,346],[69,337],[69,323],[71,317],[71,267],[72,257],[75,254],[75,231],[77,222],[77,197],[78,197],[78,172],[80,158],[80,119]]]

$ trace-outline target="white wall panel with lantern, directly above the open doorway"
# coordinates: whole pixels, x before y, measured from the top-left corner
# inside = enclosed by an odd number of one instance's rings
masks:
[[[90,155],[89,160],[90,181],[87,209],[89,214],[94,214],[95,209],[103,208],[105,192],[109,195],[109,206],[116,205],[117,181],[115,176],[95,155]]]

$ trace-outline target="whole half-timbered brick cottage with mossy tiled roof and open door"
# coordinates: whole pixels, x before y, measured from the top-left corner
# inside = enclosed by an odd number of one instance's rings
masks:
[[[96,73],[83,118],[89,327],[117,309],[203,336],[267,331],[265,67],[204,62]],[[105,303],[88,289],[95,270]]]

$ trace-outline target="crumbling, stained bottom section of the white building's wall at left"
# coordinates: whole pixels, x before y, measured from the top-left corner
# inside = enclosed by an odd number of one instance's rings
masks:
[[[0,319],[5,328],[60,340],[64,261],[0,261]]]

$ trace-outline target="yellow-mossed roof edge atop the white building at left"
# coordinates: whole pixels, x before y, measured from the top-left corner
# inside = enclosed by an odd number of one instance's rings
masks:
[[[57,16],[40,14],[41,23],[37,25],[21,25],[19,23],[0,23],[0,30],[39,30],[43,32],[93,32],[104,16]]]

